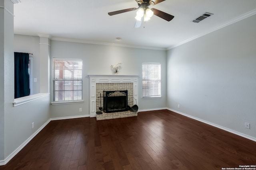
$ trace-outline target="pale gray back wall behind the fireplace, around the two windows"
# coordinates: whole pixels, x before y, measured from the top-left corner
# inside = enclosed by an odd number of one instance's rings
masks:
[[[83,60],[83,104],[53,105],[51,116],[90,115],[88,74],[112,74],[111,64],[122,63],[120,75],[139,75],[139,110],[166,107],[166,51],[51,41],[51,57]],[[161,63],[162,98],[142,100],[142,63]],[[52,63],[52,62],[51,62]],[[52,81],[51,81],[52,82]],[[51,91],[52,92],[52,91]],[[79,112],[82,108],[82,112]]]

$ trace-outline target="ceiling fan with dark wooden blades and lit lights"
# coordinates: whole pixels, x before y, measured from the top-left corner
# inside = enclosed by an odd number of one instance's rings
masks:
[[[136,2],[138,3],[138,8],[128,8],[128,9],[124,9],[124,10],[118,10],[118,11],[114,11],[114,12],[108,12],[108,15],[113,16],[116,14],[121,14],[124,12],[129,12],[129,11],[135,11],[138,9],[137,11],[137,15],[136,15],[136,23],[134,25],[135,28],[140,27],[142,21],[148,21],[150,20],[150,18],[153,15],[156,15],[166,21],[170,21],[174,18],[174,16],[167,14],[165,12],[162,12],[160,10],[157,10],[155,8],[148,8],[148,6],[150,5],[156,5],[160,2],[163,2],[165,0],[136,0]]]

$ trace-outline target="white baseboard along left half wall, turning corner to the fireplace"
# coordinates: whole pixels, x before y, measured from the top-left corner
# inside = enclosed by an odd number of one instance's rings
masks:
[[[44,125],[42,125],[35,133],[33,133],[22,145],[20,145],[16,150],[14,150],[5,160],[0,160],[0,166],[6,165],[20,150],[22,150],[44,127],[52,120],[63,120],[63,119],[74,119],[81,117],[90,117],[90,115],[80,115],[80,116],[69,116],[69,117],[56,117],[50,118]]]

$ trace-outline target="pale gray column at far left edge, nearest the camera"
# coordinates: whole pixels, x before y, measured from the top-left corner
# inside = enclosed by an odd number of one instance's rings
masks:
[[[5,114],[14,100],[14,14],[17,0],[0,0],[0,164],[5,159]]]

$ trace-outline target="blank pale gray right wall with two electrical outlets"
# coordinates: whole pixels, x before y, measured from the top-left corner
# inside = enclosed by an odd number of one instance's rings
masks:
[[[255,138],[255,30],[256,15],[170,49],[167,107]]]

